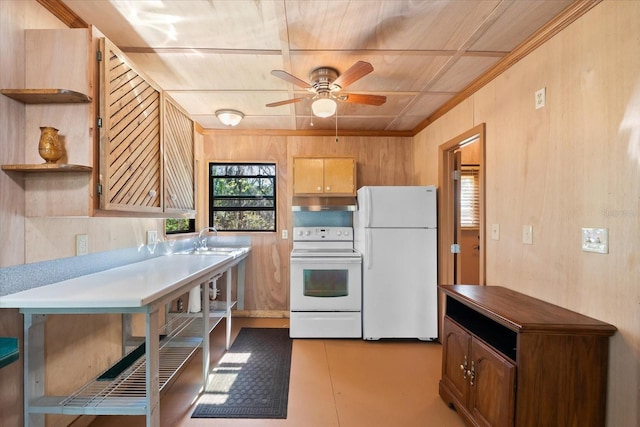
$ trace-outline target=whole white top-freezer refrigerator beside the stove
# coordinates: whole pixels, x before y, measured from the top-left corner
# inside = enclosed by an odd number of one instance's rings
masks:
[[[438,337],[435,186],[358,190],[354,246],[362,253],[366,340]]]

